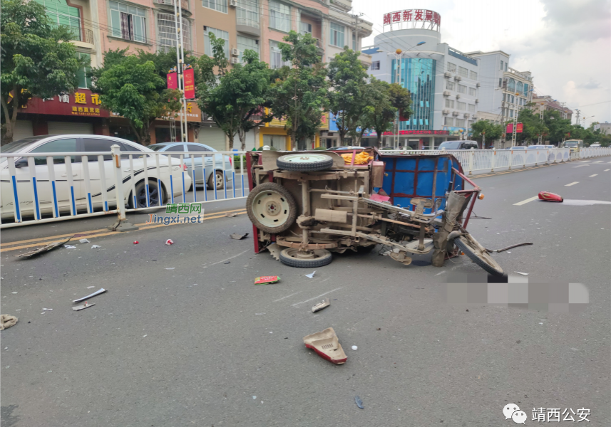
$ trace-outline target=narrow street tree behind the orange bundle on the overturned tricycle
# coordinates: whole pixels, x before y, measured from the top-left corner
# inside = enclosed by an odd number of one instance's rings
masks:
[[[327,66],[329,75],[329,112],[335,116],[339,144],[344,145],[346,135],[353,135],[360,142],[364,130],[357,132],[358,122],[364,116],[369,100],[365,96],[367,73],[360,52],[344,47]],[[362,121],[362,120],[361,120]]]

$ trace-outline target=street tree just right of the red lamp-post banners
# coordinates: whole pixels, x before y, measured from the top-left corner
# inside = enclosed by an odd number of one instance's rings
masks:
[[[247,49],[245,63],[227,70],[225,41],[210,35],[210,43],[214,56],[202,56],[199,61],[197,105],[225,132],[230,149],[237,135],[244,151],[246,133],[273,118],[265,109],[271,105],[269,68],[257,52]]]

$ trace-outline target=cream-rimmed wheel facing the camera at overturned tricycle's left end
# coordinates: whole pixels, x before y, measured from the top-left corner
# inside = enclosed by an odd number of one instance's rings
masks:
[[[283,186],[266,182],[248,194],[246,213],[261,231],[276,234],[293,225],[297,218],[297,203]]]

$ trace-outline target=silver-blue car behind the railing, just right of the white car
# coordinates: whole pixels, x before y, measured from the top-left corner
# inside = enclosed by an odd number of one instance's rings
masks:
[[[202,170],[202,153],[205,152],[216,152],[217,150],[209,147],[205,144],[197,144],[195,142],[161,142],[160,144],[153,144],[148,146],[150,149],[156,152],[188,152],[185,154],[184,162],[187,165],[189,176],[193,176],[190,154],[195,154],[195,185],[206,184],[208,189],[214,189],[216,183],[217,190],[221,190],[225,184],[223,181],[229,181],[231,179],[232,172],[232,159],[231,156],[224,154],[205,154],[206,159],[206,176],[204,179],[204,172]],[[180,154],[173,156],[180,159]],[[214,174],[212,174],[214,170]],[[223,180],[223,170],[225,170],[225,180]],[[190,191],[191,189],[189,189]]]

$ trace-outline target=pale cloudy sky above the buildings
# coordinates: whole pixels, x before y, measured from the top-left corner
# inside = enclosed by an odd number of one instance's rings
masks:
[[[533,73],[535,92],[579,108],[582,119],[594,116],[586,126],[611,122],[611,0],[353,0],[352,7],[374,24],[362,46],[374,44],[387,12],[436,11],[442,43],[509,53],[511,68]]]

